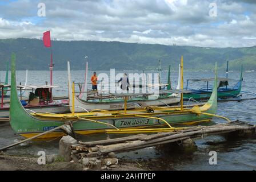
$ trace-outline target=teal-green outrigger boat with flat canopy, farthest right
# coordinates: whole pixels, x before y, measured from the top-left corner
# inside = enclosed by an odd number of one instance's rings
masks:
[[[219,84],[218,84],[218,99],[221,98],[229,98],[229,97],[238,97],[239,93],[242,89],[242,81],[243,81],[243,67],[241,68],[241,75],[239,78],[239,81],[237,84],[235,84],[233,87],[228,86],[229,85],[229,78],[227,78],[228,74],[228,65],[229,62],[227,61],[227,70],[226,70],[226,78],[218,78]],[[201,89],[189,89],[189,81],[203,81],[207,82],[206,88]],[[213,88],[209,88],[209,82],[214,81],[214,78],[198,78],[198,79],[187,79],[186,88],[185,90],[188,91],[188,93],[184,94],[185,100],[205,100],[207,98],[210,98],[211,93],[213,92]]]

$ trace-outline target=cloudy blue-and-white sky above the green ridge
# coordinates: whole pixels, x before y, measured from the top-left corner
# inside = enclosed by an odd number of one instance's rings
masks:
[[[0,39],[39,39],[47,30],[57,40],[249,47],[256,1],[0,0]]]

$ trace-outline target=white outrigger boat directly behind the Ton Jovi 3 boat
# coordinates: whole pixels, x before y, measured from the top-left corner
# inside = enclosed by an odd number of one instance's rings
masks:
[[[72,110],[72,88],[71,88],[71,73],[70,73],[70,63],[67,62],[67,73],[68,73],[68,81],[69,81],[69,105],[70,111]],[[170,74],[169,74],[170,75]],[[141,94],[133,94],[133,98],[127,100],[127,109],[134,109],[135,107],[146,107],[146,106],[169,106],[173,104],[178,104],[181,100],[181,92],[180,89],[180,80],[181,73],[179,72],[177,90],[159,90],[159,95],[155,96],[149,93],[141,93]],[[85,83],[86,84],[86,83]],[[158,84],[159,86],[161,84]],[[156,86],[156,85],[152,85]],[[86,89],[87,90],[87,89]],[[79,98],[81,96],[81,92],[79,92],[79,96],[75,96],[74,105],[75,105],[75,113],[91,111],[95,109],[101,110],[122,110],[125,108],[125,103],[123,102],[122,94],[112,94],[109,93],[110,96],[107,98],[97,98],[92,100],[86,100],[87,92],[83,92],[83,98]],[[131,95],[130,95],[131,97]]]

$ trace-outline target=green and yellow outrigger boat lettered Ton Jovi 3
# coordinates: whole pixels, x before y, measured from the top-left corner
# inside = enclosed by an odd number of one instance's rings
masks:
[[[183,57],[181,58],[181,88],[183,88]],[[19,102],[16,92],[15,79],[15,54],[11,55],[11,106],[10,125],[13,130],[23,137],[52,138],[66,135],[61,127],[70,123],[74,133],[91,134],[106,133],[108,130],[131,132],[143,132],[145,127],[167,126],[164,130],[176,130],[171,126],[174,123],[193,123],[210,121],[217,111],[217,64],[215,65],[215,84],[210,100],[203,106],[194,106],[191,109],[183,107],[183,93],[181,94],[181,107],[144,107],[140,109],[114,110],[114,111],[90,111],[85,113],[75,113],[74,100],[72,113],[28,113],[21,102]],[[72,86],[72,97],[75,97],[74,82]],[[128,97],[129,95],[125,96]],[[53,132],[44,133],[45,131]],[[158,128],[159,129],[159,128]],[[147,131],[152,131],[148,129]],[[157,129],[154,129],[157,131]]]

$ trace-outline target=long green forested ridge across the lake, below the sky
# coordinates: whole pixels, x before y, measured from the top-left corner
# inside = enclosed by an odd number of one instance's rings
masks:
[[[158,60],[163,70],[168,65],[174,70],[178,67],[179,56],[186,60],[187,71],[209,71],[215,61],[219,69],[225,70],[229,60],[229,69],[240,70],[243,64],[247,71],[256,70],[256,46],[241,48],[211,48],[193,46],[165,46],[161,44],[139,44],[99,41],[52,41],[54,70],[66,70],[66,61],[70,60],[72,70],[81,70],[85,61],[89,62],[89,70],[138,70],[155,71]],[[16,52],[17,70],[49,70],[50,50],[42,46],[40,39],[0,39],[0,60],[2,63],[10,59],[10,53]],[[85,56],[88,58],[85,60]],[[10,60],[9,60],[10,61]],[[0,70],[5,71],[1,64]]]

